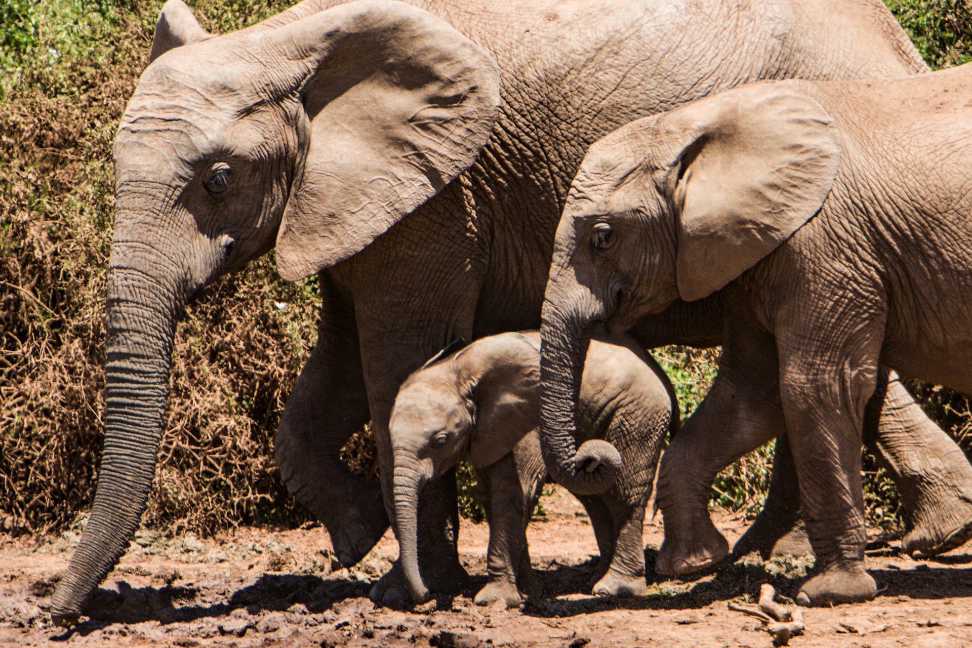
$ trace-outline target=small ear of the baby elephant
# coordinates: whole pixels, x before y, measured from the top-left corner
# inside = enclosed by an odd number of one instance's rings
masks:
[[[539,345],[502,333],[473,342],[456,361],[471,382],[476,412],[469,463],[486,467],[539,425]]]

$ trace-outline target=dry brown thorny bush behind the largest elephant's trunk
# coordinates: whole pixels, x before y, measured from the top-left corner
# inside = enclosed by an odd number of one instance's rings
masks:
[[[72,522],[93,495],[102,443],[111,143],[151,31],[122,16],[118,39],[76,93],[45,70],[0,111],[0,524]],[[151,28],[151,25],[150,25]],[[263,259],[191,305],[148,524],[212,531],[307,515],[280,483],[270,439],[313,344],[316,287],[285,285]]]

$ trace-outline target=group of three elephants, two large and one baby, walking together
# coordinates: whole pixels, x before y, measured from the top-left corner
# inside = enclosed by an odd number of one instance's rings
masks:
[[[56,622],[138,527],[180,312],[271,250],[322,298],[276,460],[342,564],[396,529],[378,601],[468,584],[465,454],[478,602],[536,594],[547,477],[590,514],[597,594],[644,590],[656,465],[655,569],[722,560],[712,478],[773,438],[734,553],[809,541],[804,604],[876,595],[862,446],[905,550],[972,536],[972,466],[894,373],[972,392],[972,68],[929,72],[881,0],[415,5],[303,0],[225,35],[162,8],[115,141],[105,446]],[[645,350],[673,343],[723,351],[659,464],[678,407]],[[380,483],[339,459],[367,421]]]

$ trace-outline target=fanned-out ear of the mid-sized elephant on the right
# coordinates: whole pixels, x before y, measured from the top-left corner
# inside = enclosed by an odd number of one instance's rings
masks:
[[[788,84],[702,99],[652,130],[674,145],[661,190],[679,217],[676,277],[686,301],[721,289],[812,219],[841,156],[834,120]]]

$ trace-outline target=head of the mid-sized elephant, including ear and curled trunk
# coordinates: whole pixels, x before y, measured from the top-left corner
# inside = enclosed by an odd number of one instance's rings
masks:
[[[757,84],[639,119],[591,147],[557,229],[543,303],[540,441],[568,489],[591,325],[623,331],[726,286],[819,211],[837,174],[833,119],[788,83]]]

